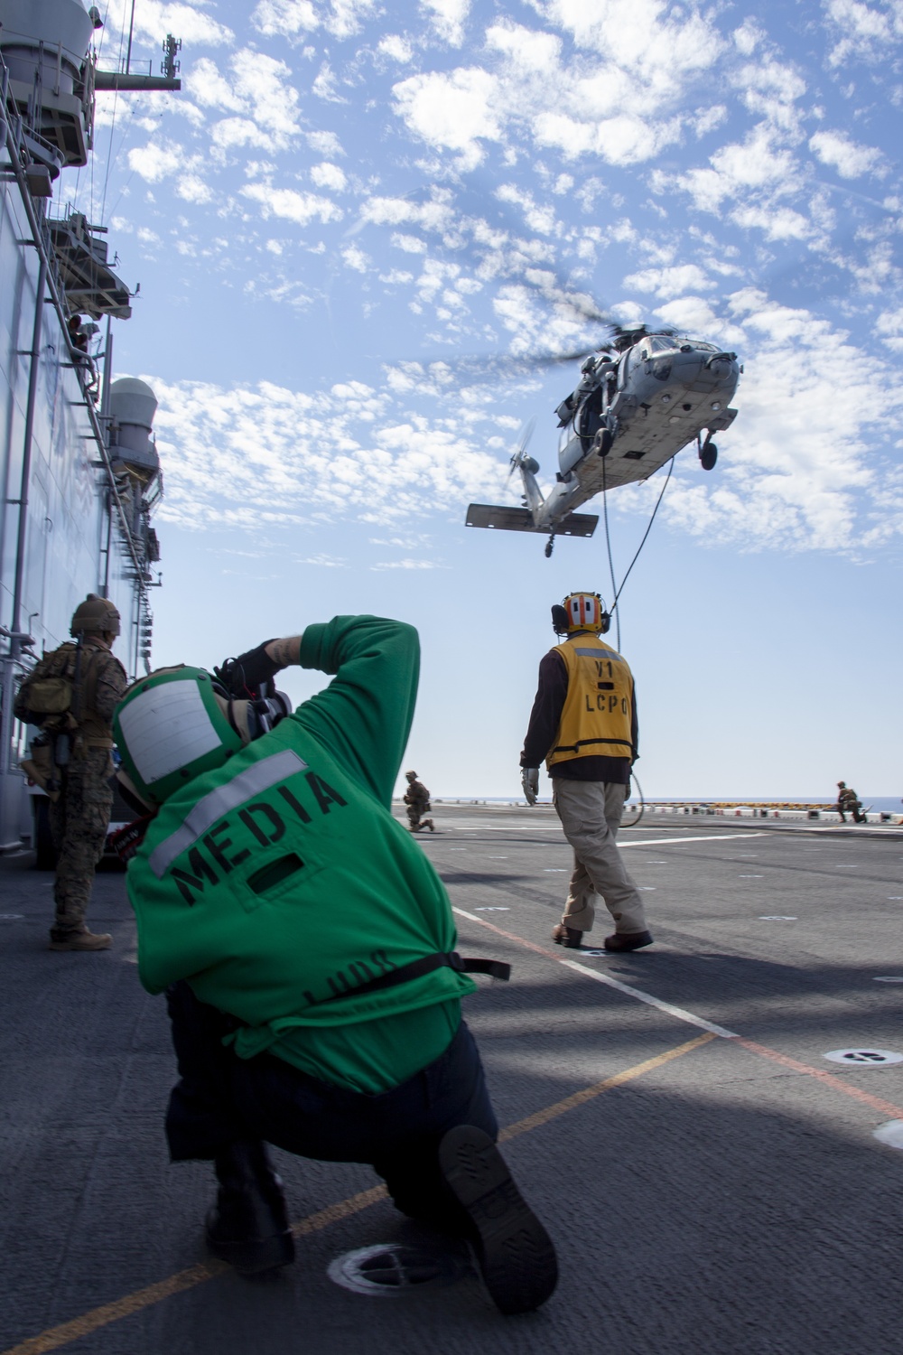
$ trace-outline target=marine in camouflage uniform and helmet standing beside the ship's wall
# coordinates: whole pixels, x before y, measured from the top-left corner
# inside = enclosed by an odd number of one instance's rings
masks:
[[[50,832],[57,850],[56,904],[50,950],[107,950],[112,936],[95,935],[85,923],[91,888],[112,812],[112,713],[127,686],[126,671],[110,653],[119,634],[119,612],[89,593],[74,611],[70,634],[81,640],[46,654],[41,675],[79,680],[72,698],[69,760],[58,766],[60,798],[50,804]],[[26,691],[22,692],[23,698]]]

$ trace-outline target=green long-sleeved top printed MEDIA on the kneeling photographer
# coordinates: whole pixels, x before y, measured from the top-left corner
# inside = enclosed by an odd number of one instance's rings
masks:
[[[353,996],[456,944],[439,875],[390,813],[418,663],[417,631],[401,622],[309,626],[301,664],[333,682],[171,795],[127,875],[149,992],[188,980],[245,1023],[240,1056],[271,1049],[371,1093],[443,1053],[475,986],[439,969]]]

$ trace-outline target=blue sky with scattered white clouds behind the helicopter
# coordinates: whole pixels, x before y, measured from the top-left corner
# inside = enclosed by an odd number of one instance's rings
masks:
[[[131,7],[99,8],[112,68]],[[646,795],[903,794],[903,0],[137,0],[133,69],[167,33],[181,92],[99,95],[57,190],[141,283],[114,359],[160,401],[153,663],[399,617],[408,763],[517,794],[550,607],[611,602],[605,537],[546,560],[464,512],[519,501],[532,417],[554,482],[579,363],[531,359],[598,347],[596,306],[745,369],[619,603]],[[617,583],[661,476],[608,496]]]

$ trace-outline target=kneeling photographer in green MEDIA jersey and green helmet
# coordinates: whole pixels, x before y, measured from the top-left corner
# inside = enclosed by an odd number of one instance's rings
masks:
[[[123,785],[152,814],[127,875],[139,976],[168,989],[169,1150],[215,1164],[217,1256],[246,1274],[294,1257],[271,1142],[372,1164],[398,1209],[474,1243],[519,1313],[552,1293],[555,1253],[460,1018],[467,972],[508,966],[455,953],[445,889],[390,812],[418,663],[413,627],[337,617],[126,692]],[[272,687],[290,664],[336,675],[294,714]]]

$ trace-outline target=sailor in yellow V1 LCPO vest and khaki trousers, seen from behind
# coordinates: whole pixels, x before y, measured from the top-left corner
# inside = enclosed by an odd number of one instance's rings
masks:
[[[529,804],[539,793],[539,764],[552,778],[552,802],[574,848],[574,873],[559,946],[577,950],[593,927],[596,896],[615,919],[605,950],[639,950],[653,938],[643,901],[617,850],[617,828],[638,755],[634,678],[602,640],[611,622],[598,593],[569,593],[552,607],[555,634],[566,635],[539,665],[539,690],[521,753]]]

